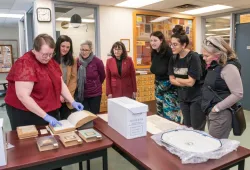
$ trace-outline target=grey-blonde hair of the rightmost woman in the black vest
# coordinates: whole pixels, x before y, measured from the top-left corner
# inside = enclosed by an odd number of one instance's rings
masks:
[[[228,45],[228,43],[224,41],[222,37],[210,36],[206,39],[217,46],[220,50],[213,45],[207,45],[205,43],[203,43],[202,48],[208,53],[219,55],[219,64],[221,64],[222,66],[224,66],[228,60],[237,59],[234,50]]]

